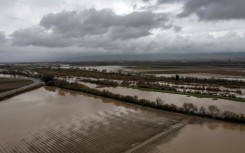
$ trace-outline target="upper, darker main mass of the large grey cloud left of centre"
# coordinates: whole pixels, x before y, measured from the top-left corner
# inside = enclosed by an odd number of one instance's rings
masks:
[[[111,10],[89,9],[61,12],[43,17],[40,25],[67,37],[109,34],[113,39],[131,39],[150,35],[150,30],[164,27],[167,17],[152,12],[116,15]]]

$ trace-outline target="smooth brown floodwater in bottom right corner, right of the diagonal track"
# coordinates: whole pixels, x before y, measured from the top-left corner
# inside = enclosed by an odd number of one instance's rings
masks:
[[[151,150],[147,152],[244,153],[244,140],[244,125],[205,121],[186,125],[168,142],[160,140],[154,146],[148,146]]]

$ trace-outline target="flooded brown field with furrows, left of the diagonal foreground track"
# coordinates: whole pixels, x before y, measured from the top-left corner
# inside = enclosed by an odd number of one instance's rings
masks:
[[[42,87],[0,103],[0,152],[121,153],[186,119]]]

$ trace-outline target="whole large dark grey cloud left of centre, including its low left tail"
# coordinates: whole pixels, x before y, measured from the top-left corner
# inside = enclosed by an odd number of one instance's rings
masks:
[[[103,43],[108,41],[126,41],[149,36],[153,29],[176,30],[177,27],[167,24],[167,21],[168,17],[164,13],[145,11],[117,15],[111,10],[89,9],[48,14],[37,27],[15,31],[12,37],[13,44],[19,46],[93,45],[90,41],[104,46],[106,44]]]

